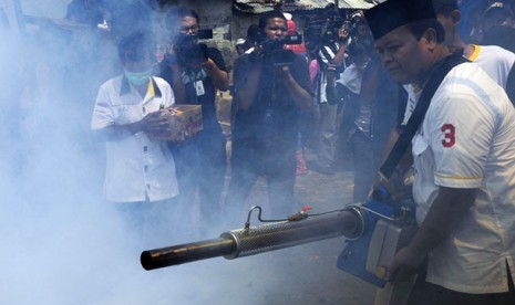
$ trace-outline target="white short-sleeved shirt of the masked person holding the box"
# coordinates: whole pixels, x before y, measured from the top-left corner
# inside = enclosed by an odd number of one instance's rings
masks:
[[[161,105],[173,105],[171,86],[159,77],[152,78],[144,98],[123,75],[105,82],[99,90],[91,128],[138,122]],[[152,140],[142,132],[106,141],[106,155],[104,191],[109,201],[157,201],[178,193],[175,162],[166,141]]]

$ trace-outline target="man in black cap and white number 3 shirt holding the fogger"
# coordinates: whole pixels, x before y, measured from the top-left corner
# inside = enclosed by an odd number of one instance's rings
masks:
[[[515,112],[506,93],[451,54],[431,1],[389,0],[365,18],[392,78],[422,88],[401,135],[412,145],[420,228],[388,266],[390,281],[424,270],[409,304],[515,304]]]

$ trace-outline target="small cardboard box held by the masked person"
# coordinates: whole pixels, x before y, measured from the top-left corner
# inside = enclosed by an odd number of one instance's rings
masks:
[[[179,140],[181,132],[187,130],[188,138],[203,129],[200,105],[174,105],[161,111],[168,118],[169,132],[153,135],[153,139]]]

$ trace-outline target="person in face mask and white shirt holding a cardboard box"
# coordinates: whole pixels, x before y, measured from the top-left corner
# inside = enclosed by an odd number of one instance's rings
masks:
[[[106,200],[123,203],[119,208],[134,229],[156,233],[162,224],[171,228],[171,199],[178,187],[167,141],[155,139],[169,132],[161,109],[175,98],[164,80],[151,76],[152,45],[141,32],[121,40],[124,73],[100,87],[91,128],[106,140]]]

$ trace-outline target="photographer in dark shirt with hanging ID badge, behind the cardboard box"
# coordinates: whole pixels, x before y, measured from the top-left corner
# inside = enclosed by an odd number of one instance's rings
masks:
[[[203,220],[216,217],[226,172],[226,139],[216,118],[216,90],[228,88],[228,74],[217,49],[198,43],[198,14],[185,7],[167,14],[173,45],[158,75],[174,90],[177,104],[202,105],[203,130],[188,143],[171,146],[177,166],[179,201],[186,214],[198,189]],[[186,217],[185,214],[185,217]]]

